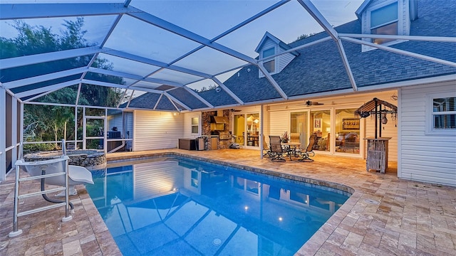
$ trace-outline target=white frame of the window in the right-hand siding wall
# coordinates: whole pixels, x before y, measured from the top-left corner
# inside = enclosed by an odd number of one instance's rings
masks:
[[[440,114],[456,114],[456,111],[434,112],[434,99],[456,97],[455,91],[438,92],[426,95],[425,102],[425,134],[427,135],[455,135],[456,129],[434,129],[434,116]]]

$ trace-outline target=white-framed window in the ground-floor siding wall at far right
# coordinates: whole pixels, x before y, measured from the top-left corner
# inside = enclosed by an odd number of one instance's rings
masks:
[[[456,95],[427,96],[427,134],[455,134],[456,132]]]

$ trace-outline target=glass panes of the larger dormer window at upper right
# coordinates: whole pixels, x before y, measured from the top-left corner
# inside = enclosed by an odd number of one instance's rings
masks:
[[[398,35],[398,2],[371,11],[371,33]],[[373,43],[383,44],[394,39],[375,38]]]

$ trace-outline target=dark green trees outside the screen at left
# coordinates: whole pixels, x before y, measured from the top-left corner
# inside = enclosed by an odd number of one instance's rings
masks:
[[[11,24],[18,32],[14,38],[0,38],[0,58],[14,58],[23,55],[39,53],[51,53],[60,50],[84,48],[93,46],[86,38],[86,30],[83,29],[84,19],[76,18],[73,21],[64,21],[63,31],[60,34],[53,33],[51,28],[43,26],[31,26],[24,21],[14,21]],[[30,78],[36,75],[55,73],[61,70],[85,67],[92,60],[93,55],[78,56],[64,60],[49,61],[33,65],[21,66],[1,70],[0,81],[9,82]],[[107,70],[113,69],[113,64],[103,58],[96,58],[91,65],[95,68]],[[26,85],[15,89],[14,92],[46,87],[81,78],[83,74],[77,74],[66,78],[58,78],[32,85]],[[125,84],[123,78],[110,75],[87,73],[86,78],[115,84]],[[48,95],[38,98],[40,102],[76,104],[78,85],[64,87]],[[120,100],[120,92],[110,87],[83,84],[78,105],[94,105],[100,107],[115,107]],[[90,114],[86,113],[86,114]],[[74,107],[55,105],[25,105],[24,106],[24,138],[31,141],[58,141],[61,138],[74,139],[74,120],[82,124],[82,115],[75,117]],[[67,131],[68,129],[68,131]]]

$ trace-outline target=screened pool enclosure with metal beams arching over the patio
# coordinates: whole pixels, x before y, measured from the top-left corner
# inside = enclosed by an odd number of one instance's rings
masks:
[[[131,150],[136,110],[232,109],[382,88],[385,78],[363,73],[372,68],[367,57],[347,48],[437,67],[410,79],[454,75],[455,53],[447,50],[456,42],[454,26],[445,33],[390,33],[380,29],[382,11],[406,5],[410,19],[388,18],[410,26],[420,1],[378,2],[393,4],[378,9],[378,20],[369,14],[373,30],[366,34],[341,25],[361,20],[375,1],[1,1],[0,180],[18,159],[20,142],[28,149],[56,149],[66,139],[78,149]],[[276,48],[261,50],[266,36]],[[384,43],[393,40],[416,47]],[[442,48],[420,50],[425,43]],[[307,49],[337,60],[281,82],[287,74],[278,74],[276,57]],[[341,82],[328,86],[318,74]],[[242,85],[234,80],[243,76]]]

